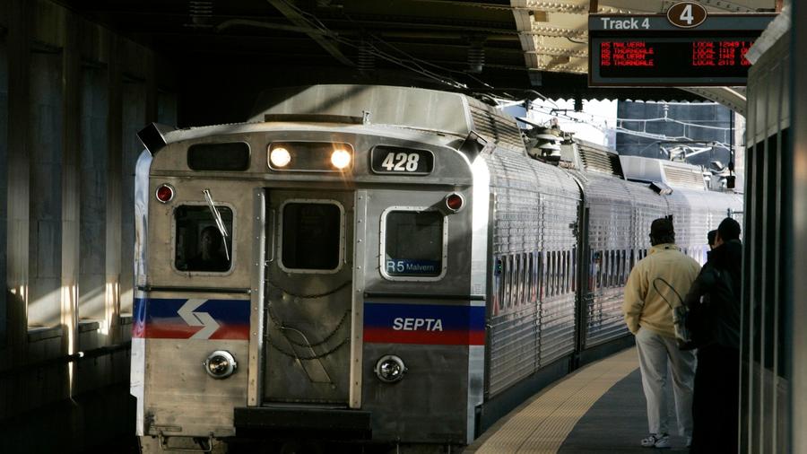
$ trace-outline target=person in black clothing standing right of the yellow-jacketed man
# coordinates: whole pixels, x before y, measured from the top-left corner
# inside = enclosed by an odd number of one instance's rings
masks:
[[[692,337],[698,343],[690,453],[736,453],[738,449],[740,224],[725,218],[717,227],[715,245],[684,301],[690,308]]]

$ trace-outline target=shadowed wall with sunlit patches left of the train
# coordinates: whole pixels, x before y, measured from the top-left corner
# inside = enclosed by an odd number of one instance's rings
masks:
[[[134,435],[134,133],[177,123],[159,82],[170,74],[152,50],[57,4],[0,0],[4,452]]]

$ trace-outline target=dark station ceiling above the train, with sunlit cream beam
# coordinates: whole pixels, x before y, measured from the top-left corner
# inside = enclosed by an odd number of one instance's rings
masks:
[[[782,0],[701,0],[717,13]],[[550,98],[694,100],[587,86],[587,18],[671,0],[62,0],[177,62],[261,67],[284,83],[395,83]],[[520,93],[519,93],[520,92]]]

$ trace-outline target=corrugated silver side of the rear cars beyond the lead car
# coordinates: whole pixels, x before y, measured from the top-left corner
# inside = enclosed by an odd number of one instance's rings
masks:
[[[650,248],[653,220],[672,214],[676,244],[704,263],[707,231],[716,229],[729,209],[742,211],[742,200],[733,193],[690,188],[675,188],[671,195],[660,196],[644,183],[577,174],[585,185],[589,210],[590,254],[586,259],[591,260],[592,275],[584,295],[584,345],[592,346],[628,332],[621,310],[624,283],[629,267],[645,257]]]

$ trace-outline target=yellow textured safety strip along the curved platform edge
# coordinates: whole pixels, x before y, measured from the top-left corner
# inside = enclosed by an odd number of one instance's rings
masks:
[[[593,362],[545,389],[526,406],[516,408],[482,434],[464,452],[475,454],[555,454],[569,432],[594,403],[638,368],[636,349],[630,347]]]

